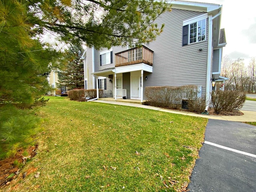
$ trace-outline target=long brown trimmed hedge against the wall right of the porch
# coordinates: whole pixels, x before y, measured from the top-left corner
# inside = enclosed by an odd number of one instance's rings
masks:
[[[177,109],[182,104],[182,98],[188,101],[188,109],[193,112],[203,112],[205,100],[197,98],[198,87],[186,86],[151,86],[145,88],[145,96],[151,106]]]

